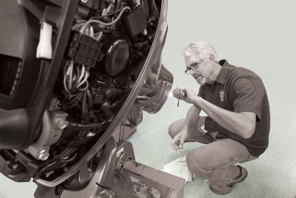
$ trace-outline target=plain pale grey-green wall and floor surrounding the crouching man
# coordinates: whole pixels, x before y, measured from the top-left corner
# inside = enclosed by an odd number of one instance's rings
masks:
[[[192,41],[215,47],[218,59],[252,70],[266,87],[271,111],[270,144],[265,153],[243,164],[248,178],[223,197],[291,197],[296,195],[296,90],[295,90],[295,1],[196,1],[168,2],[168,34],[163,64],[174,76],[173,88],[199,85],[184,73],[182,50]],[[170,148],[168,126],[185,118],[191,106],[169,97],[159,113],[144,112],[143,122],[129,138],[136,160],[151,167],[185,156],[200,143],[186,143],[175,152]],[[204,115],[204,113],[202,113]],[[36,184],[15,183],[0,175],[5,198],[33,197]],[[0,194],[1,197],[1,194]],[[185,186],[184,197],[222,197],[201,178]]]

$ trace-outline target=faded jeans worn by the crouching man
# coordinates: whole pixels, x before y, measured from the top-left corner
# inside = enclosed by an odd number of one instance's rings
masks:
[[[185,119],[173,122],[169,129],[170,137],[180,132]],[[184,142],[200,142],[202,145],[190,151],[186,156],[186,163],[189,170],[218,186],[225,186],[231,183],[239,175],[239,167],[234,164],[244,163],[257,159],[252,156],[247,148],[241,143],[230,138],[216,140],[218,132],[207,132],[201,134],[197,129],[205,123],[205,117],[201,116],[188,131]]]

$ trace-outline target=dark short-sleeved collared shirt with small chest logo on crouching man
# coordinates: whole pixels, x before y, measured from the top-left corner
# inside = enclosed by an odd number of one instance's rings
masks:
[[[198,96],[216,106],[236,113],[256,114],[254,134],[245,139],[223,128],[209,116],[205,119],[205,130],[219,132],[217,139],[231,138],[246,146],[252,156],[260,156],[268,147],[270,130],[269,103],[262,80],[254,72],[219,61],[222,66],[212,85],[200,86]]]

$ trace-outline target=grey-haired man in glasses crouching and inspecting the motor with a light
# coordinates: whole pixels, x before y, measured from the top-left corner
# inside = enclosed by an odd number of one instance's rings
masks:
[[[177,87],[173,96],[193,104],[186,119],[168,129],[175,151],[184,142],[201,142],[186,163],[191,172],[210,181],[217,194],[229,193],[247,177],[236,163],[257,159],[268,147],[269,103],[265,87],[254,72],[217,61],[215,49],[192,42],[183,51],[186,74],[200,84],[196,95],[190,87]],[[203,110],[208,116],[200,117]]]

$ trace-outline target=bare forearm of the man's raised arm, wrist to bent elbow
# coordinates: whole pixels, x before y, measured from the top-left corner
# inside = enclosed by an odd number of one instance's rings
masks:
[[[225,129],[243,138],[250,138],[255,131],[256,114],[252,112],[235,113],[207,102],[196,96],[194,105],[200,107],[210,118]],[[187,119],[187,118],[186,118]]]

